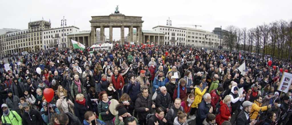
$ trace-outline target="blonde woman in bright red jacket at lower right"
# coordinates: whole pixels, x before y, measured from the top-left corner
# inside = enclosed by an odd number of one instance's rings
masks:
[[[225,96],[225,98],[220,101],[220,113],[216,116],[216,123],[218,125],[221,125],[224,121],[229,121],[231,119],[230,102],[230,95]]]

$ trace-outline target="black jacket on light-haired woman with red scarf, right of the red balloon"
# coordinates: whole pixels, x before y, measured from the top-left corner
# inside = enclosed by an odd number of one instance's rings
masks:
[[[88,107],[87,101],[85,101],[85,106],[83,106],[75,101],[74,112],[80,121],[84,120],[84,114],[86,113],[86,111],[88,111],[87,107]]]

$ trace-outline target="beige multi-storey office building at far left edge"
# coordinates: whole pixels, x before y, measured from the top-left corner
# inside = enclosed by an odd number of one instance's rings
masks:
[[[29,22],[26,30],[7,32],[0,35],[1,55],[42,50],[42,32],[50,28],[50,22],[38,20]]]

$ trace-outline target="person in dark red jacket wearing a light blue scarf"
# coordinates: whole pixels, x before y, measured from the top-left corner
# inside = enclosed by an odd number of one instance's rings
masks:
[[[185,101],[184,99],[186,99],[187,97],[187,88],[185,87],[185,84],[187,83],[187,81],[185,81],[184,78],[181,78],[179,81],[179,93],[180,95],[178,96],[178,86],[175,88],[174,92],[173,92],[173,100],[175,100],[177,97],[179,97],[182,101]]]

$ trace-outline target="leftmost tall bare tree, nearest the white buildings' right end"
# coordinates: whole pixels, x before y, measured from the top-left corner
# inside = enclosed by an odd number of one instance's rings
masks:
[[[233,25],[227,26],[225,29],[227,32],[224,32],[223,35],[224,39],[223,41],[225,42],[226,45],[228,45],[230,52],[232,51],[232,48],[237,40],[236,39],[237,29],[238,28]]]

